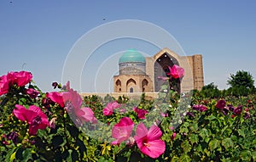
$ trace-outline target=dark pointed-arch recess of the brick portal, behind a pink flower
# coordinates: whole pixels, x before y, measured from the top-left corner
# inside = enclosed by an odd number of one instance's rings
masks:
[[[173,64],[178,64],[177,59],[173,58],[168,53],[163,53],[154,62],[154,92],[159,92],[160,87],[164,84],[164,81],[159,79],[159,76],[166,77],[166,73],[169,73],[169,66],[172,67]],[[173,87],[177,92],[180,92],[180,83],[177,87]]]

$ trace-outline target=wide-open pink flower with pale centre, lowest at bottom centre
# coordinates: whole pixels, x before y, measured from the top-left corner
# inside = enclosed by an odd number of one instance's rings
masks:
[[[149,130],[140,123],[137,126],[136,136],[137,147],[143,154],[151,158],[158,158],[166,150],[166,143],[160,139],[162,131],[158,126],[151,126]]]

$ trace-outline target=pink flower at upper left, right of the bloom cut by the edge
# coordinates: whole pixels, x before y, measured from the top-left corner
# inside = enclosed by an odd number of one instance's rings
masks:
[[[32,74],[27,71],[12,71],[7,74],[7,77],[12,84],[17,84],[19,87],[25,86],[32,80]]]

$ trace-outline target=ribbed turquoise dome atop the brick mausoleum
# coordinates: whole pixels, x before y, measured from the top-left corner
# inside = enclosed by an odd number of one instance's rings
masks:
[[[145,63],[145,58],[142,53],[137,52],[135,49],[129,49],[119,58],[119,63],[126,62],[140,62]]]

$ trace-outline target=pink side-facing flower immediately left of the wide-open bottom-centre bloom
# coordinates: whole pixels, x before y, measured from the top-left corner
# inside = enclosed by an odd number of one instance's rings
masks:
[[[131,136],[134,123],[129,117],[123,117],[119,123],[115,124],[112,128],[112,137],[116,140],[112,144],[119,145]]]

